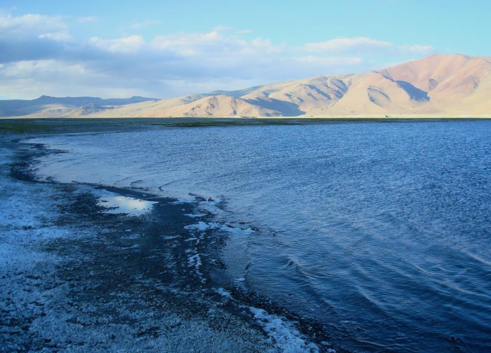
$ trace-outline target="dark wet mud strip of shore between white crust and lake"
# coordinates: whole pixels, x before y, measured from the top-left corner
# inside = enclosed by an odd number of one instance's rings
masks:
[[[19,143],[19,140],[13,142],[17,147]],[[19,153],[18,148],[12,148],[15,153]],[[210,215],[201,218],[187,216],[196,213],[198,200],[193,203],[178,203],[175,199],[152,195],[141,188],[35,180],[32,171],[28,170],[31,158],[52,152],[55,151],[47,151],[39,144],[21,151],[15,157],[16,162],[11,165],[9,175],[16,182],[42,190],[53,189],[55,199],[64,200],[57,206],[58,212],[54,220],[41,228],[62,226],[76,231],[79,228],[95,231],[88,239],[62,237],[41,246],[44,252],[54,253],[62,258],[64,266],[55,265],[58,267],[55,277],[63,286],[88,288],[79,293],[70,291],[68,296],[72,298],[67,300],[65,306],[60,304],[60,309],[73,311],[73,304],[69,303],[92,308],[95,306],[96,316],[110,321],[108,315],[115,310],[112,303],[121,303],[122,295],[126,298],[123,305],[132,306],[138,302],[138,306],[146,307],[149,313],[160,316],[163,321],[177,320],[177,316],[188,324],[198,320],[205,329],[212,329],[215,332],[213,334],[225,332],[221,339],[232,339],[234,345],[237,345],[235,350],[261,352],[269,347],[281,351],[278,346],[280,344],[296,344],[303,352],[332,352],[332,346],[327,344],[331,337],[325,327],[302,320],[299,315],[224,279],[224,264],[220,262],[219,251],[226,241],[226,235],[217,237],[216,232],[205,230],[199,235],[201,241],[196,241],[196,233],[189,228],[199,220],[211,221]],[[137,200],[151,199],[156,203],[152,205],[150,212],[139,217],[109,214],[98,203],[93,189],[102,189]],[[190,258],[196,254],[207,254],[198,257],[199,266],[197,261],[193,264],[190,262]],[[97,261],[93,261],[94,259]],[[218,281],[211,277],[212,273],[213,277],[219,278]],[[40,279],[46,280],[43,276]],[[220,287],[217,282],[221,282]],[[129,291],[130,288],[133,290]],[[120,294],[119,298],[114,297],[115,292]],[[146,299],[141,302],[141,297]],[[247,308],[250,309],[246,310]],[[213,312],[211,316],[210,310]],[[128,313],[125,312],[124,315]],[[118,325],[129,325],[121,315],[118,317]],[[33,320],[43,319],[34,317]],[[92,320],[90,315],[86,320]],[[276,333],[268,331],[268,320],[279,320],[283,325],[282,329],[289,331],[290,336],[275,338]],[[152,325],[156,323],[153,322]],[[179,326],[182,325],[184,324]],[[237,328],[230,331],[231,325]],[[89,327],[90,324],[86,323],[85,326]],[[165,328],[157,329],[151,325],[147,331],[142,335],[150,337],[150,341],[153,336],[154,340],[162,340],[162,337],[169,334]],[[69,335],[70,332],[72,331],[68,329],[68,333],[64,334]],[[177,336],[182,334],[183,332],[179,332]],[[197,337],[196,342],[199,343],[201,339],[199,346],[206,345],[202,338]],[[43,339],[41,347],[48,348],[53,342],[53,337]],[[280,342],[281,340],[284,342]],[[191,346],[192,344],[190,342]],[[68,344],[65,348],[68,347],[73,346]],[[338,353],[347,352],[342,348],[336,349]],[[213,351],[211,346],[210,351]]]

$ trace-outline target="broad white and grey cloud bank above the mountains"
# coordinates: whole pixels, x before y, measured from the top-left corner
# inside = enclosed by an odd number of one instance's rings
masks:
[[[95,20],[95,19],[94,19]],[[79,19],[88,22],[92,19]],[[134,28],[156,24],[134,23]],[[364,55],[377,50],[420,55],[431,46],[367,37],[336,38],[300,47],[241,36],[215,27],[205,33],[144,38],[74,38],[63,18],[0,12],[0,90],[18,98],[58,96],[176,97],[239,89],[269,81],[380,68]],[[394,61],[394,60],[391,60]]]

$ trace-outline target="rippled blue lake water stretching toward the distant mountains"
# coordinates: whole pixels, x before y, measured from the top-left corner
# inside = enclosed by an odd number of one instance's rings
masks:
[[[359,352],[491,351],[491,122],[39,139],[38,173],[222,200],[230,276]]]

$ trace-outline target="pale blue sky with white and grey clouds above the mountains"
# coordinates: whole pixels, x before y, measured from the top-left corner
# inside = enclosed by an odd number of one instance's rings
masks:
[[[491,56],[489,0],[0,0],[0,99],[179,97]]]

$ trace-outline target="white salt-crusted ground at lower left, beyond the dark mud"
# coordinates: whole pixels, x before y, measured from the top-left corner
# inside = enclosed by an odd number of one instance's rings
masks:
[[[65,202],[59,198],[57,186],[10,178],[5,165],[9,157],[8,151],[0,147],[0,311],[4,324],[0,330],[1,352],[53,351],[48,347],[63,352],[110,353],[268,351],[268,343],[254,336],[249,328],[241,328],[238,321],[222,331],[199,318],[156,315],[153,306],[128,310],[128,303],[140,300],[137,294],[133,298],[129,293],[130,297],[122,296],[117,303],[104,304],[119,310],[128,322],[137,323],[135,326],[118,323],[111,315],[98,311],[102,304],[95,300],[73,303],[70,293],[83,292],[84,288],[61,280],[57,271],[67,259],[77,260],[80,256],[78,260],[84,261],[82,254],[69,252],[70,248],[66,253],[55,254],[43,251],[43,247],[55,238],[95,241],[103,229],[56,226],[58,206]],[[195,267],[201,265],[199,255],[191,256],[190,261]],[[160,327],[159,335],[141,335],[156,327]]]

